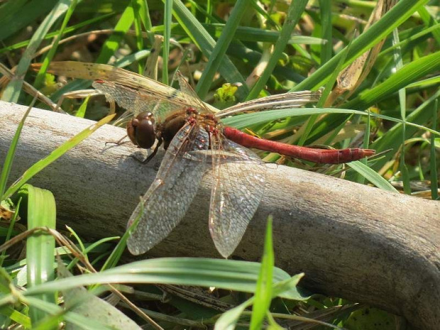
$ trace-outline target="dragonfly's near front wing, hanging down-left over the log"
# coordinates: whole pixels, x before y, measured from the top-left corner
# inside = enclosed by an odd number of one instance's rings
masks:
[[[207,170],[209,136],[187,124],[172,139],[153,184],[128,221],[138,226],[128,238],[128,250],[141,254],[163,240],[187,213]]]

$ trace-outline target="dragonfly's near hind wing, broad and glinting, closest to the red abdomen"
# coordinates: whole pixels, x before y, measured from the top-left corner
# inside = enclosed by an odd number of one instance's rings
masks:
[[[213,156],[215,181],[209,206],[209,231],[217,250],[227,258],[240,243],[260,204],[266,169],[251,150],[227,139],[221,145],[226,156]]]

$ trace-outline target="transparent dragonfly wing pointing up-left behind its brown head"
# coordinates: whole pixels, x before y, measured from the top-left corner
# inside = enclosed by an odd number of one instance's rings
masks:
[[[164,99],[146,89],[126,87],[115,82],[97,80],[93,82],[92,86],[103,93],[107,100],[116,101],[119,106],[131,111],[134,116],[143,111],[150,111],[158,122],[164,121],[172,112],[188,106],[178,99],[172,99],[172,97]]]

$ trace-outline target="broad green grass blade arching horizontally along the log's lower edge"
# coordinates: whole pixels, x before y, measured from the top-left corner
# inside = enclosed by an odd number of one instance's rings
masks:
[[[260,270],[259,263],[207,258],[157,258],[121,265],[101,273],[79,275],[69,280],[48,282],[32,287],[25,295],[55,292],[102,283],[163,283],[200,285],[227,290],[254,292]],[[275,268],[273,281],[290,280],[290,275]],[[296,288],[280,293],[287,299],[304,299]]]

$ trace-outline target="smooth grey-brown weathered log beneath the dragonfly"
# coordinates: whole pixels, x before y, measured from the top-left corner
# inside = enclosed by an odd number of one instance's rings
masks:
[[[26,107],[0,102],[0,161]],[[91,121],[33,109],[23,128],[11,180]],[[104,126],[31,183],[50,189],[59,224],[88,238],[121,235],[155,177],[148,165],[114,148],[122,128]],[[209,184],[202,183],[187,216],[154,256],[219,257],[208,232]],[[312,292],[344,297],[400,314],[417,329],[440,324],[440,204],[285,166],[268,166],[260,207],[234,255],[258,260],[266,219],[273,215],[277,266]]]

